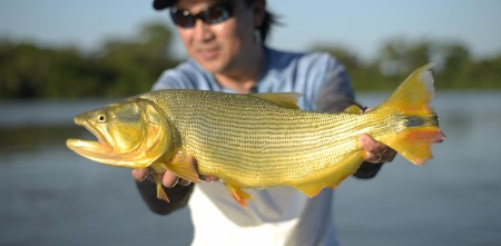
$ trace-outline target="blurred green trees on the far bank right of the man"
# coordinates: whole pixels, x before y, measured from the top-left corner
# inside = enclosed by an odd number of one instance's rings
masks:
[[[315,46],[340,59],[352,77],[356,90],[393,90],[414,69],[433,62],[438,89],[501,89],[501,52],[474,58],[465,45],[455,41],[387,40],[376,58],[363,62],[346,48]]]

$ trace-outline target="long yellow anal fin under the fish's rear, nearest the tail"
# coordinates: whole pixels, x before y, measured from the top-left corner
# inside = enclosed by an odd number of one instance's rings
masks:
[[[292,185],[294,188],[301,190],[308,197],[314,197],[318,193],[328,187],[334,189],[345,178],[353,175],[363,161],[363,151],[357,150],[348,154],[342,161],[333,165],[330,168],[321,169],[305,179],[301,179],[301,184]]]

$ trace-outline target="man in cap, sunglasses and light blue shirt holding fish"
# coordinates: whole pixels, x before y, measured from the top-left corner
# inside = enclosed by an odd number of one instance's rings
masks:
[[[227,92],[299,92],[305,110],[341,111],[354,104],[344,67],[325,53],[292,53],[265,46],[274,16],[266,0],[154,0],[168,9],[190,59],[163,73],[154,89],[202,89]],[[361,136],[365,161],[355,174],[373,177],[396,152]],[[372,163],[372,164],[370,164]],[[196,160],[193,160],[196,165]],[[336,245],[333,191],[314,198],[289,188],[248,190],[247,209],[228,196],[217,177],[193,185],[166,171],[163,185],[170,203],[156,198],[146,169],[132,170],[146,204],[168,214],[189,204],[193,245]]]

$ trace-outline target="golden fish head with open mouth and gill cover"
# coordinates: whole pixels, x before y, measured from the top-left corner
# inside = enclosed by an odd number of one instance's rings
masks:
[[[75,117],[97,141],[68,139],[67,146],[91,160],[129,168],[145,168],[171,146],[169,121],[153,101],[126,99]]]

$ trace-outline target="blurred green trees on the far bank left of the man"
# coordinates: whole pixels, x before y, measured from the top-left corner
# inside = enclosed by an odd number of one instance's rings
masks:
[[[166,68],[171,32],[145,24],[131,40],[110,40],[97,52],[40,48],[0,40],[0,98],[125,97],[148,91]]]

